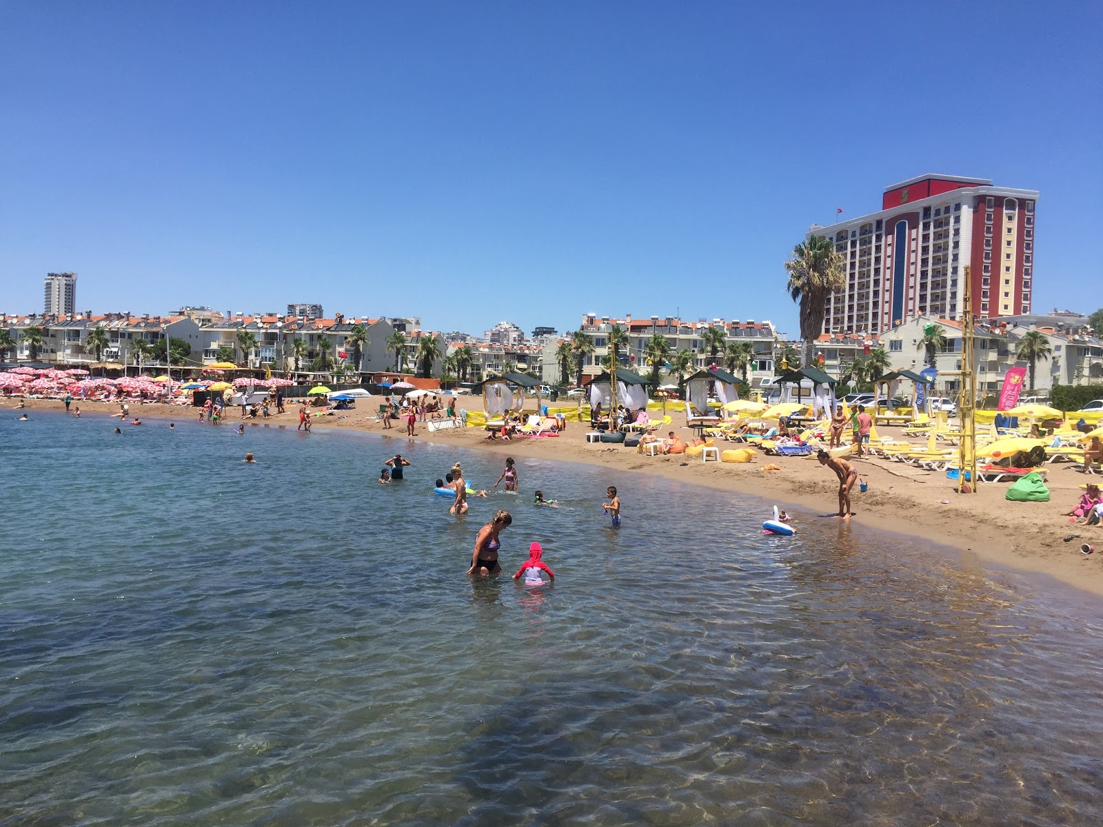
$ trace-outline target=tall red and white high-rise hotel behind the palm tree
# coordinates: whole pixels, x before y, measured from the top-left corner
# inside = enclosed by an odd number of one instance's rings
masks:
[[[1034,190],[992,181],[920,175],[885,189],[881,211],[829,227],[813,225],[846,262],[846,287],[827,301],[824,333],[882,333],[917,315],[959,319],[965,266],[973,312],[1030,312]]]

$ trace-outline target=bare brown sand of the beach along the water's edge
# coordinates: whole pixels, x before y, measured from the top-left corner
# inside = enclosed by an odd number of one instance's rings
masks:
[[[64,411],[64,404],[55,399],[30,399],[26,411]],[[479,400],[464,400],[475,401]],[[82,416],[106,417],[118,411],[118,404],[74,400],[81,405]],[[4,412],[13,412],[17,398],[3,400]],[[371,402],[347,411],[344,418],[325,417],[313,421],[313,427],[325,431],[373,433],[392,439],[409,440],[405,427],[395,427],[388,432],[374,419],[366,416],[375,410]],[[229,427],[242,421],[227,409],[224,423]],[[196,409],[184,406],[165,406],[157,402],[133,404],[131,416],[141,418],[181,421],[199,417]],[[117,419],[113,421],[117,422]],[[296,428],[296,407],[288,405],[287,412],[272,416],[268,420],[245,420],[250,426],[268,425]],[[113,426],[114,427],[114,426]],[[678,429],[676,423],[671,428]],[[634,449],[622,445],[587,443],[582,434],[588,430],[585,423],[570,422],[560,437],[520,438],[510,442],[489,442],[481,429],[464,428],[435,431],[430,433],[424,423],[418,423],[419,442],[442,445],[458,445],[493,453],[512,454],[521,459],[531,457],[553,461],[581,462],[601,465],[615,471],[645,473],[662,476],[690,485],[731,491],[752,495],[768,502],[800,509],[807,514],[820,514],[825,518],[833,514],[837,503],[837,484],[834,475],[815,460],[806,458],[764,458],[756,462],[731,464],[720,462],[702,463],[698,458],[647,457]],[[891,430],[889,432],[892,432]],[[768,461],[781,465],[781,471],[762,471]],[[1047,485],[1051,492],[1048,503],[1010,503],[1004,500],[1007,488],[1003,483],[982,484],[976,494],[960,495],[953,483],[943,474],[923,472],[899,463],[877,460],[853,460],[859,473],[869,482],[865,494],[852,493],[855,512],[853,520],[861,525],[890,531],[903,540],[910,537],[955,549],[965,562],[987,561],[1000,567],[1047,574],[1072,586],[1079,591],[1103,595],[1103,529],[1095,526],[1072,525],[1062,512],[1069,511],[1079,497],[1079,488],[1089,477],[1069,469],[1069,463],[1050,464]],[[949,500],[949,503],[941,501]],[[1064,543],[1063,537],[1079,535]],[[1100,552],[1081,555],[1080,544],[1100,546]],[[975,563],[974,563],[975,565]]]

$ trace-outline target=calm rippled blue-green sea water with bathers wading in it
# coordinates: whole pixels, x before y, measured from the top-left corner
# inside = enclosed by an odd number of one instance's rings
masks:
[[[0,825],[1103,823],[1101,612],[1048,581],[598,468],[457,519],[432,481],[501,458],[14,418]],[[500,507],[554,587],[464,577]]]

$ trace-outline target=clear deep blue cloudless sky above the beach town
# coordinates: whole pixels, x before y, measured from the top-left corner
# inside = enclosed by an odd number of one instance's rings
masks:
[[[0,310],[772,319],[835,208],[1041,191],[1035,307],[1103,305],[1103,3],[0,7]],[[1088,284],[1095,284],[1089,294]]]

